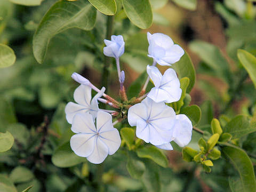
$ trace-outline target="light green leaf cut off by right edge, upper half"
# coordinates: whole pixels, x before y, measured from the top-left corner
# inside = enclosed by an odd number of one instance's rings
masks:
[[[256,87],[256,57],[245,50],[238,50],[237,57],[246,69],[254,86]]]

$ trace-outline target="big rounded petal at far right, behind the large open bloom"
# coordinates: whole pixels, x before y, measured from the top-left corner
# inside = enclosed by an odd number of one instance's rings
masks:
[[[174,131],[179,132],[177,135],[173,135],[175,137],[174,142],[177,143],[180,147],[184,147],[188,145],[192,137],[192,123],[190,119],[183,114],[176,115],[176,119],[179,123],[175,123],[173,129]]]

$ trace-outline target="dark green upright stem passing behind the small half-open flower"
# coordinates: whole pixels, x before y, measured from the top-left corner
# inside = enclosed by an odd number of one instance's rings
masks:
[[[114,24],[114,16],[108,16],[106,39],[111,38],[111,34],[113,33],[113,24]],[[109,76],[108,68],[110,66],[110,61],[111,61],[110,58],[105,55],[104,66],[103,66],[103,71],[102,71],[102,78],[101,78],[101,85],[106,87],[106,92],[107,92],[107,87],[108,87],[108,76]]]

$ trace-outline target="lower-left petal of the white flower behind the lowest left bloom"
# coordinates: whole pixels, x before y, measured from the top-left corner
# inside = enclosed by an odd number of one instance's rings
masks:
[[[73,118],[77,113],[87,113],[90,108],[86,108],[85,106],[78,105],[74,102],[68,102],[65,107],[66,119],[69,124],[72,124]]]

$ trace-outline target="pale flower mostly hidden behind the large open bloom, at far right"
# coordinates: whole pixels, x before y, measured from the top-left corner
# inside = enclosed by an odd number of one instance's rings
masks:
[[[190,119],[183,114],[176,115],[171,123],[172,140],[180,147],[185,147],[191,140],[193,126]],[[170,142],[163,145],[156,145],[156,147],[165,150],[173,150]]]

